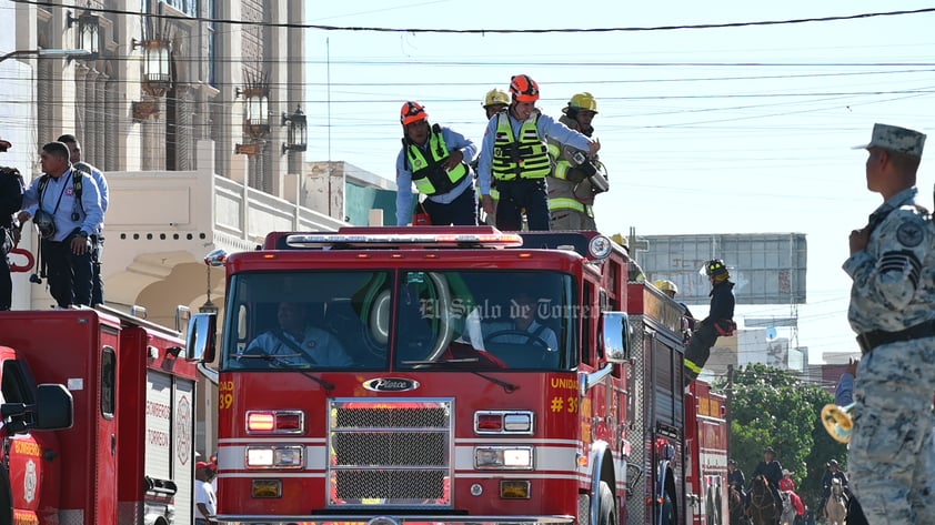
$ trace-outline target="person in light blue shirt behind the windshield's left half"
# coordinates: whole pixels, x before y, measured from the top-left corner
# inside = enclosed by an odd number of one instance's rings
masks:
[[[350,366],[353,361],[331,333],[309,324],[308,305],[279,303],[279,327],[258,335],[242,357],[268,357],[282,366]]]

